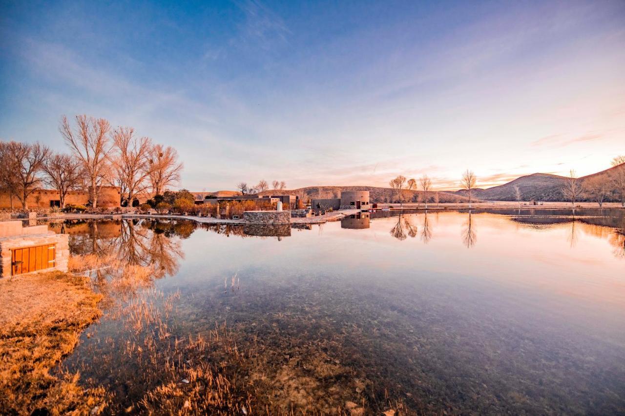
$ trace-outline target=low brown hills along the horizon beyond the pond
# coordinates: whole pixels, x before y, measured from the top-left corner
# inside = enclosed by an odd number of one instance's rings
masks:
[[[609,175],[615,169],[625,169],[625,164],[611,167],[605,171],[596,174],[580,177],[579,181],[582,186],[591,178],[599,177],[604,181],[609,181]],[[472,191],[472,199],[474,201],[516,201],[516,187],[521,191],[523,201],[562,201],[562,187],[566,183],[566,177],[552,174],[535,173],[527,176],[521,176],[507,184],[490,187],[487,189],[476,188]],[[436,185],[436,184],[434,184]],[[304,201],[313,198],[337,198],[341,196],[342,191],[369,191],[371,202],[391,202],[397,203],[397,195],[391,188],[376,186],[307,186],[297,189],[288,189],[284,191],[269,190],[260,192],[261,195],[298,195]],[[206,195],[214,196],[231,196],[239,194],[236,191],[217,191],[202,192]],[[439,202],[468,202],[468,192],[465,189],[459,191],[437,191],[429,192],[429,201],[434,200],[435,194],[438,194]],[[404,190],[404,202],[423,201],[423,191],[406,191]],[[584,198],[582,198],[582,201]],[[608,198],[607,201],[617,201],[616,195]]]

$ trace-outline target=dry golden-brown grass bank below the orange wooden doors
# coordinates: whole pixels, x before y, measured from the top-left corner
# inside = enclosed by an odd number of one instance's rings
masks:
[[[86,414],[104,408],[104,389],[83,389],[78,374],[50,373],[84,327],[98,319],[100,299],[87,279],[61,272],[0,281],[2,413]]]

